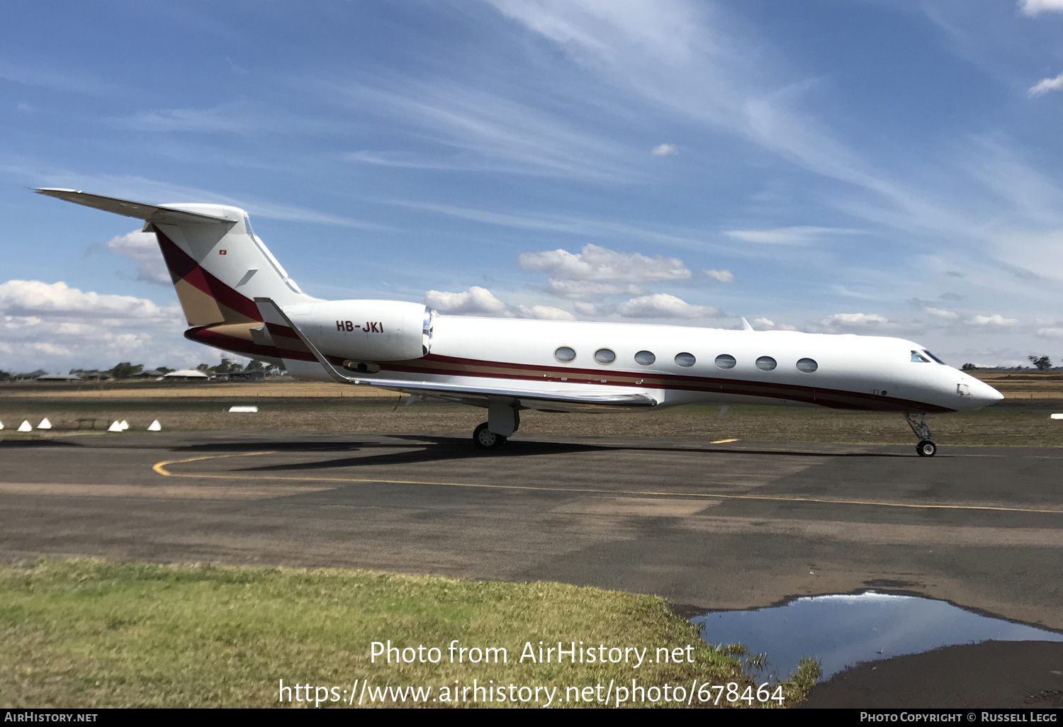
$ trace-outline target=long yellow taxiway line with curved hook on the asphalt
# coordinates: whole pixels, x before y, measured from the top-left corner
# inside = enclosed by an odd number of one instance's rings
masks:
[[[378,479],[362,477],[288,477],[282,475],[246,475],[246,474],[213,474],[207,472],[178,473],[170,472],[167,467],[170,464],[184,464],[185,462],[199,462],[206,459],[225,459],[230,457],[256,457],[260,455],[276,454],[270,452],[243,452],[240,454],[206,455],[203,457],[189,457],[187,459],[169,459],[156,462],[151,469],[164,477],[198,477],[207,479],[269,479],[272,481],[314,481],[314,483],[360,483],[375,485],[432,485],[437,487],[470,487],[487,490],[530,490],[536,492],[581,492],[586,494],[608,494],[608,495],[653,495],[665,497],[705,497],[706,500],[759,500],[773,503],[814,503],[822,505],[870,505],[874,507],[898,507],[924,510],[984,510],[991,512],[1040,512],[1048,514],[1063,514],[1063,510],[1047,510],[1028,507],[999,507],[992,505],[917,505],[912,503],[889,503],[874,500],[828,500],[826,497],[779,497],[773,495],[735,495],[716,494],[702,492],[657,492],[653,490],[603,490],[588,487],[532,487],[527,485],[477,485],[475,483],[438,483],[422,481],[417,479]]]

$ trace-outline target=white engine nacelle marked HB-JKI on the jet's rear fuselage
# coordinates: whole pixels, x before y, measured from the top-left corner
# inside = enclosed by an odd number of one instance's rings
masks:
[[[399,301],[322,301],[285,312],[321,351],[356,361],[403,361],[432,351],[435,310]]]

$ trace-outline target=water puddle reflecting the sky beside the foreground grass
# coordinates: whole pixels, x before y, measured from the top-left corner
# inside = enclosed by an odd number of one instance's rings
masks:
[[[980,615],[918,596],[876,593],[797,598],[755,611],[694,616],[710,645],[744,644],[765,662],[757,678],[784,679],[803,656],[823,669],[821,680],[862,661],[919,654],[982,641],[1063,641],[1063,633]]]

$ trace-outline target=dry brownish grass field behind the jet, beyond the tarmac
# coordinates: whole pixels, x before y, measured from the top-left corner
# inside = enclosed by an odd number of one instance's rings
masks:
[[[1063,373],[976,372],[999,388],[1001,405],[931,419],[943,444],[1063,446]],[[230,413],[233,404],[255,404],[258,413]],[[316,430],[435,434],[467,437],[486,419],[473,407],[441,403],[406,406],[406,396],[339,384],[293,381],[261,384],[130,383],[111,385],[0,387],[0,436],[69,436],[100,432],[128,420],[130,432],[155,419],[164,430]],[[50,433],[15,433],[22,420],[48,417]],[[521,435],[535,437],[662,437],[689,440],[736,438],[776,442],[908,444],[913,437],[897,415],[825,409],[718,407],[663,411],[552,415],[525,411]],[[112,435],[120,436],[120,435]]]

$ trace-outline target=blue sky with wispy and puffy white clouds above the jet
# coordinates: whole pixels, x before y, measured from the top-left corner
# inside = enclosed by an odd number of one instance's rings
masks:
[[[0,26],[0,369],[171,367],[135,222],[322,298],[1063,358],[1063,0],[54,2]]]

